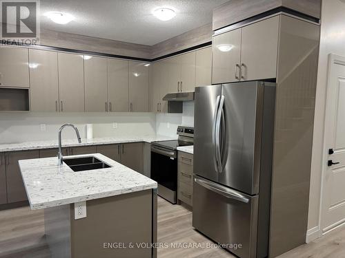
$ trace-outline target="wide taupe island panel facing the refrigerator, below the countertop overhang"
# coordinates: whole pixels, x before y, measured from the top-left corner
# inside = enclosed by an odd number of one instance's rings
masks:
[[[152,189],[89,200],[83,219],[74,219],[71,204],[72,258],[152,257],[152,248],[136,248],[137,243],[152,244],[152,202]],[[126,248],[112,246],[122,243]],[[128,248],[129,243],[134,247]]]

